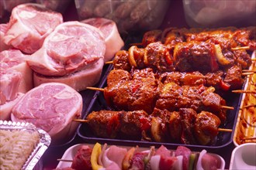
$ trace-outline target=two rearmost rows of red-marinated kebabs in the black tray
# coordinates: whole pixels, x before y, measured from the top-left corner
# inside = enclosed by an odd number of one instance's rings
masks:
[[[200,30],[200,31],[199,31]],[[166,29],[144,34],[143,48],[131,46],[113,61],[116,68],[130,70],[151,67],[155,71],[228,70],[231,66],[251,66],[248,51],[256,49],[256,27],[246,29]]]

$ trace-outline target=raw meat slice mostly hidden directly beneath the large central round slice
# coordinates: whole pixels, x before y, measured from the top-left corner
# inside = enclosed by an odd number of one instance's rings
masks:
[[[85,70],[68,74],[67,76],[43,76],[39,73],[33,73],[34,86],[37,87],[42,83],[65,83],[74,90],[85,90],[86,87],[93,87],[99,82],[104,65],[103,59],[99,59],[96,63],[90,64]]]

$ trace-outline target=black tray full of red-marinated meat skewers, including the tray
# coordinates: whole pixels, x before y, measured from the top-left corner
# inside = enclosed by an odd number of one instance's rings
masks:
[[[232,90],[244,88],[255,28],[153,32],[143,47],[116,53],[78,135],[122,145],[229,145],[241,100]]]

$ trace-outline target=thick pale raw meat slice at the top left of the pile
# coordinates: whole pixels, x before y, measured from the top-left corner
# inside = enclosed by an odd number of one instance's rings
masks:
[[[62,22],[61,13],[44,8],[43,5],[17,5],[12,9],[3,40],[5,44],[31,54],[40,49],[43,40]]]

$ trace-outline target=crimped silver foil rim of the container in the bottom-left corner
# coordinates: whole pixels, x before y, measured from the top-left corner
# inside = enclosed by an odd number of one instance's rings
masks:
[[[30,123],[0,120],[0,130],[28,131],[28,132],[37,131],[38,132],[40,136],[39,143],[33,149],[31,154],[29,155],[29,158],[26,160],[25,164],[22,166],[22,170],[29,170],[29,169],[32,170],[36,166],[37,162],[40,161],[40,158],[42,157],[43,153],[50,146],[50,141],[51,141],[50,135],[47,134],[46,131],[36,128],[35,125]]]

